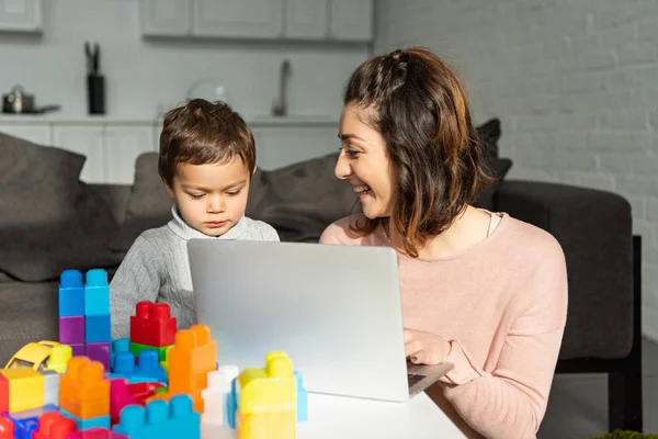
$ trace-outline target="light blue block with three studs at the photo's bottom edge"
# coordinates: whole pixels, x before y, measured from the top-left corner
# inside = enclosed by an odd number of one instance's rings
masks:
[[[113,430],[131,439],[200,439],[201,418],[192,408],[192,397],[179,394],[169,403],[155,399],[146,407],[137,404],[124,407]]]

